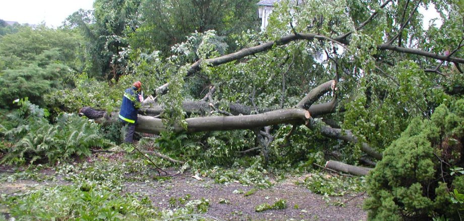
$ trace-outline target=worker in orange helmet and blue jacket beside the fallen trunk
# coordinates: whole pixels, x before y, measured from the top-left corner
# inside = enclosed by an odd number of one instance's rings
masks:
[[[142,83],[135,82],[131,88],[124,91],[123,103],[119,112],[120,121],[126,126],[125,143],[132,143],[137,124],[138,109],[143,101]]]

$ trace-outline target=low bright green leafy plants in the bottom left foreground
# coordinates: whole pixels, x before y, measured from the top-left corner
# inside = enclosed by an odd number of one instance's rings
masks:
[[[115,191],[56,186],[32,191],[7,200],[10,213],[21,219],[142,219],[156,215],[148,198]]]

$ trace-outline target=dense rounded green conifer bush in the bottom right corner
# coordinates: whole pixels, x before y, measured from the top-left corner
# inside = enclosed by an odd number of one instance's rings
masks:
[[[367,177],[369,219],[458,219],[463,133],[464,99],[440,105],[430,121],[413,120]]]

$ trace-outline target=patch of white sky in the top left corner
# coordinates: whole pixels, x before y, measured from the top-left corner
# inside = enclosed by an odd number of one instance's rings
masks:
[[[61,26],[79,9],[91,10],[94,0],[0,0],[0,19],[20,24]]]

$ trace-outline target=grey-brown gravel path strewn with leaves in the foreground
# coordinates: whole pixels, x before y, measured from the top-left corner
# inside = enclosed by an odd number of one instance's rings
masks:
[[[330,197],[326,201],[321,195],[295,184],[304,178],[304,175],[289,178],[269,189],[257,189],[249,196],[245,196],[245,193],[254,189],[253,186],[243,186],[235,182],[216,184],[207,177],[198,181],[189,174],[178,175],[166,181],[125,182],[124,191],[148,196],[154,206],[160,209],[175,209],[169,204],[169,199],[185,198],[189,195],[189,200],[205,198],[209,200],[206,214],[219,220],[366,220],[367,214],[362,210],[366,197],[364,193]],[[43,186],[67,184],[70,183],[60,178],[43,182],[0,182],[0,194],[12,195]],[[278,199],[284,199],[287,208],[255,211],[256,206],[262,203],[272,205]],[[344,206],[335,205],[336,202],[343,202]],[[0,212],[6,212],[4,210],[0,205]]]

